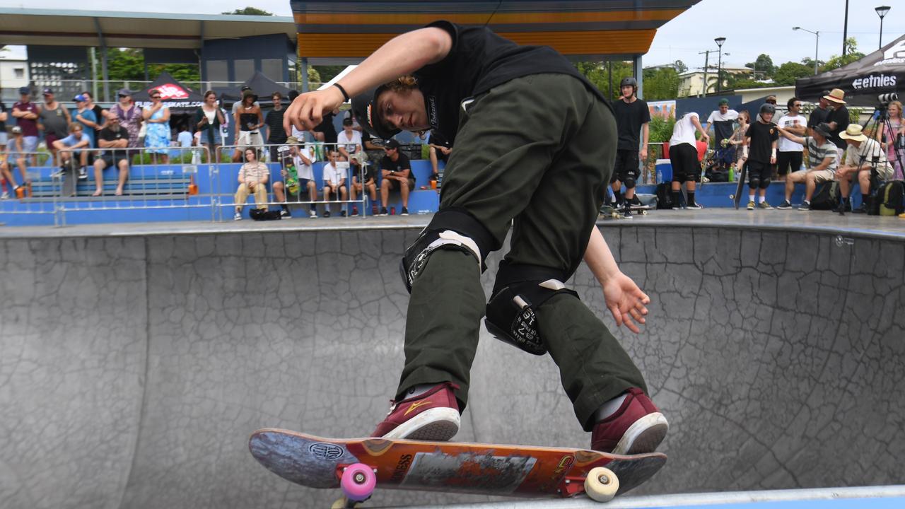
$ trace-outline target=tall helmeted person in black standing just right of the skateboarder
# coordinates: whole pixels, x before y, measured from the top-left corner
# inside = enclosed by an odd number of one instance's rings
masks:
[[[647,158],[648,122],[651,121],[651,111],[647,109],[647,102],[638,99],[638,82],[634,78],[623,78],[619,84],[622,97],[613,103],[613,112],[616,116],[616,130],[619,131],[619,142],[616,145],[616,164],[613,168],[613,177],[610,185],[613,186],[615,206],[619,206],[622,186],[625,184],[624,215],[632,217],[634,186],[638,179],[638,160]],[[639,154],[638,133],[642,134],[643,143]]]

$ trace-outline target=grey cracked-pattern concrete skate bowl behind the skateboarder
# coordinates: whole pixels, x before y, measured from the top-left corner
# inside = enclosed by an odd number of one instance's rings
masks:
[[[651,296],[643,332],[614,327],[586,266],[567,285],[671,424],[667,465],[630,495],[905,482],[905,235],[801,216],[601,225]],[[379,219],[0,230],[0,505],[329,506],[338,490],[272,475],[247,440],[360,437],[386,415],[398,260],[428,218]],[[553,361],[482,330],[456,439],[589,438]],[[369,506],[500,501],[378,486]]]

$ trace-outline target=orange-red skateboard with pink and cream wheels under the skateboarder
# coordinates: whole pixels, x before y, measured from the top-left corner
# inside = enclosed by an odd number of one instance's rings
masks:
[[[354,507],[376,487],[606,502],[641,485],[666,463],[650,453],[619,456],[568,447],[322,438],[264,428],[249,440],[271,472],[312,488],[341,488],[334,508]]]

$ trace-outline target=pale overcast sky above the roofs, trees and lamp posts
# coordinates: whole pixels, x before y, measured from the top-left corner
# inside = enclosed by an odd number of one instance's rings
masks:
[[[849,4],[849,36],[858,40],[863,53],[875,50],[879,42],[880,18],[873,10],[877,5],[892,7],[883,22],[883,41],[889,43],[905,34],[905,0],[851,0]],[[70,0],[42,0],[38,4],[0,0],[0,5],[125,10],[121,0],[90,0],[79,5]],[[292,14],[288,0],[195,0],[189,4],[185,0],[155,0],[138,6],[161,13],[184,13],[187,6],[192,12],[219,14],[245,5],[278,15]],[[648,66],[681,60],[689,68],[701,68],[704,55],[698,53],[715,50],[713,39],[719,36],[726,37],[723,52],[730,54],[723,62],[729,65],[753,62],[760,53],[769,54],[777,65],[813,57],[814,35],[792,31],[795,25],[820,32],[820,59],[826,60],[842,52],[844,8],[845,0],[702,0],[657,32],[643,63]]]

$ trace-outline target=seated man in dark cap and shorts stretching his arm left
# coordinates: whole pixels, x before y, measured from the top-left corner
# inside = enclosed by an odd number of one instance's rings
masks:
[[[804,182],[805,201],[798,207],[798,210],[810,210],[811,197],[814,196],[814,189],[817,184],[836,178],[836,168],[839,167],[839,156],[836,153],[836,146],[830,142],[830,126],[826,122],[817,124],[811,128],[812,136],[805,136],[804,138],[795,136],[782,128],[776,129],[786,139],[801,143],[807,148],[805,169],[793,171],[788,175],[786,178],[786,201],[776,208],[780,210],[791,209],[792,203],[789,200],[792,199],[795,184]]]

